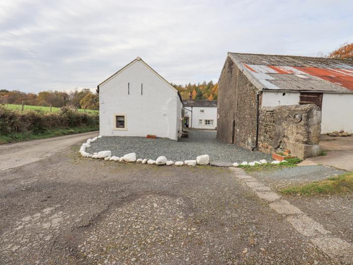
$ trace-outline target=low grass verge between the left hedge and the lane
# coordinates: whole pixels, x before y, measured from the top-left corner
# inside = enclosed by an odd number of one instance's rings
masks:
[[[99,130],[98,126],[97,127],[93,126],[93,127],[74,127],[74,128],[46,130],[40,133],[33,133],[33,132],[13,133],[8,135],[1,135],[0,144],[26,141],[26,140],[35,140],[35,139],[42,139],[42,138],[49,138],[54,136],[84,133],[84,132],[91,132],[91,131],[98,131],[98,130]]]

